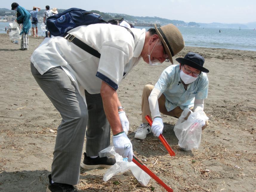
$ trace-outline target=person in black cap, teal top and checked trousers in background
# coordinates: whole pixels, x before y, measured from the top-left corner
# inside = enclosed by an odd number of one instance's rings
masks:
[[[27,50],[28,49],[28,32],[31,28],[31,20],[30,20],[30,13],[25,10],[24,7],[19,6],[18,3],[12,3],[12,10],[16,10],[21,15],[18,16],[15,21],[23,19],[22,27],[21,27],[21,48],[20,50]]]

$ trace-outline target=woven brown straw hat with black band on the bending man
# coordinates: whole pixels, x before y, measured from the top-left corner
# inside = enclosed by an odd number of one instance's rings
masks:
[[[181,32],[173,24],[167,24],[162,27],[157,27],[155,24],[155,30],[164,45],[164,50],[168,54],[169,60],[173,64],[172,57],[185,46]]]

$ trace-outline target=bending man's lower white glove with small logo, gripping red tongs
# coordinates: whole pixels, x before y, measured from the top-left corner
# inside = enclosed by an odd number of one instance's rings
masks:
[[[118,135],[114,135],[112,139],[115,152],[121,155],[123,158],[128,157],[128,162],[131,162],[133,156],[132,143],[128,139],[127,135],[122,132]]]

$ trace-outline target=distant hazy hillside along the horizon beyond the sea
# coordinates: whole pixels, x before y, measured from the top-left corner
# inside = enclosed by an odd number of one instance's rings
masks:
[[[38,16],[43,16],[45,7],[41,7],[42,9],[38,12]],[[65,9],[58,9],[58,13],[63,12]],[[32,10],[27,10],[28,12]],[[205,28],[231,28],[231,29],[238,29],[239,27],[241,29],[254,29],[256,28],[256,22],[250,22],[247,24],[223,24],[223,23],[196,23],[196,22],[189,22],[185,23],[184,21],[180,20],[170,20],[160,17],[139,17],[139,16],[130,16],[126,14],[121,13],[103,13],[98,10],[91,10],[93,13],[100,14],[105,21],[111,20],[111,19],[117,19],[117,18],[124,18],[126,21],[130,23],[147,23],[147,24],[159,24],[159,25],[165,25],[165,24],[174,24],[176,26],[186,26],[186,27],[205,27]],[[5,8],[0,8],[0,17],[3,16],[16,16],[16,11],[9,10]]]

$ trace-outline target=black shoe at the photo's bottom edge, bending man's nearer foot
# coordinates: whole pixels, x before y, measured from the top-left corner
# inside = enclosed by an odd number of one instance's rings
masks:
[[[46,192],[78,192],[73,185],[68,185],[64,183],[52,183],[51,174],[49,177],[49,185],[46,189]]]

